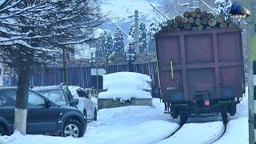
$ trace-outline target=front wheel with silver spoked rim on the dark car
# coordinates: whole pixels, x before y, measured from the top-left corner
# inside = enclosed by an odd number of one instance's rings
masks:
[[[81,138],[82,134],[84,134],[82,124],[74,118],[67,120],[62,128],[63,137]]]

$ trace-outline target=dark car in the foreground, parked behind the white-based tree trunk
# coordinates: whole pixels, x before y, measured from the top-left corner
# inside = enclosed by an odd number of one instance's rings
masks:
[[[0,87],[0,134],[14,132],[14,110],[17,87]],[[82,137],[86,131],[83,114],[70,106],[60,106],[42,94],[29,90],[27,134]]]

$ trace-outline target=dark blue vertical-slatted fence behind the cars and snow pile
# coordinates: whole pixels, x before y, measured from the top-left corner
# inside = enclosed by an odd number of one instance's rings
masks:
[[[158,74],[156,62],[148,63],[134,63],[132,64],[133,71],[141,74],[147,74],[152,78],[152,88],[156,90],[158,87]],[[95,66],[81,66],[81,67],[68,67],[68,83],[70,86],[81,86],[83,88],[90,88],[92,81],[90,77],[91,68]],[[98,66],[104,68],[107,74],[128,71],[126,64]],[[47,68],[45,70],[35,70],[33,76],[30,78],[31,86],[52,86],[59,85],[63,82],[62,68]]]

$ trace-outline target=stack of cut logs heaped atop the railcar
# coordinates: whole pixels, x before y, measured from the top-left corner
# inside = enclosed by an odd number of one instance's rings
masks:
[[[186,11],[181,15],[167,21],[166,26],[162,26],[164,32],[178,32],[183,30],[209,30],[209,29],[226,29],[237,28],[230,18],[224,18],[222,15],[214,15],[201,11],[199,8],[193,11]]]

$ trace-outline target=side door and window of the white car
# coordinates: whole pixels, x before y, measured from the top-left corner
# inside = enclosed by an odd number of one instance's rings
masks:
[[[79,99],[84,102],[84,106],[86,108],[87,118],[94,118],[94,103],[90,100],[88,95],[84,90],[77,90]]]

